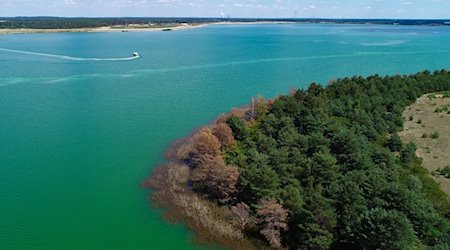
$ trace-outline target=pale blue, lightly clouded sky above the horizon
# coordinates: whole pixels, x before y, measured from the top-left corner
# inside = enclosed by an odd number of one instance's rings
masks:
[[[0,0],[0,16],[450,19],[450,0]]]

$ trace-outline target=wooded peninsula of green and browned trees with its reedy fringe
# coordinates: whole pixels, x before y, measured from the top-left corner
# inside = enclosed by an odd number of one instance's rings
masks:
[[[397,134],[408,105],[446,90],[441,70],[256,98],[175,143],[145,185],[230,248],[448,249],[449,197]]]

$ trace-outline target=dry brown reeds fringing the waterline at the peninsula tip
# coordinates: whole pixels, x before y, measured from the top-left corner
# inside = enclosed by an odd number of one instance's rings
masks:
[[[143,187],[155,189],[153,204],[168,209],[164,214],[166,219],[185,222],[197,232],[196,242],[219,243],[232,249],[258,249],[233,225],[228,207],[218,206],[190,190],[190,172],[189,167],[183,164],[162,165],[155,169]]]

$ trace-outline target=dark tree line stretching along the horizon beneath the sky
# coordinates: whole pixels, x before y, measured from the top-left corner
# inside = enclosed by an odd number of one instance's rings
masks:
[[[0,29],[76,29],[130,24],[201,24],[211,22],[294,22],[294,23],[338,23],[338,24],[398,24],[398,25],[450,25],[450,20],[414,19],[327,19],[327,18],[156,18],[156,17],[107,17],[107,18],[63,18],[63,17],[0,17]]]

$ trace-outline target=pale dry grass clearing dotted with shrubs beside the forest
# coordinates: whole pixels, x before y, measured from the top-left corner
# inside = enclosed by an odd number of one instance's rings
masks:
[[[439,94],[427,94],[407,107],[403,112],[405,129],[400,133],[404,142],[414,142],[417,145],[417,155],[423,158],[423,165],[430,173],[450,165],[450,114],[442,109],[450,105],[450,98]],[[434,133],[438,138],[432,138]],[[441,188],[450,194],[450,179],[441,175],[433,175]]]

